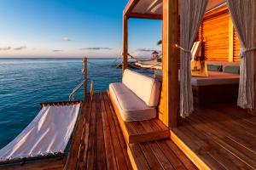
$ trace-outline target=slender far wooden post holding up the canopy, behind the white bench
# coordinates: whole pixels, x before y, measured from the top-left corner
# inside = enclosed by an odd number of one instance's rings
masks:
[[[123,17],[123,71],[128,67],[128,17]]]

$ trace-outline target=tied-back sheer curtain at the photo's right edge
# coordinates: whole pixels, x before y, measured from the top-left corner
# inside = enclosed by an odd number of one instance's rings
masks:
[[[254,52],[255,52],[255,0],[227,0],[231,18],[241,44],[240,83],[237,105],[254,108]]]

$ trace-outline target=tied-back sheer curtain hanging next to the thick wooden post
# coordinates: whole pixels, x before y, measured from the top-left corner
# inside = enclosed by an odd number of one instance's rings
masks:
[[[208,0],[181,0],[181,68],[180,68],[180,115],[189,116],[194,111],[191,87],[191,48],[203,20]]]

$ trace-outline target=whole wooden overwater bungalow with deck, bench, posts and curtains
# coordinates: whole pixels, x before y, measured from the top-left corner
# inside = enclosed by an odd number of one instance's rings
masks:
[[[130,0],[122,82],[85,88],[67,156],[8,159],[0,169],[256,169],[255,11],[254,0]],[[131,18],[162,20],[157,79],[127,69]],[[193,77],[194,61],[206,75]]]

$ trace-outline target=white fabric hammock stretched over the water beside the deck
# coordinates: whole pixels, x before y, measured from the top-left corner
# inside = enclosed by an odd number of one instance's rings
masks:
[[[12,142],[0,161],[63,153],[79,115],[78,105],[45,106]]]

